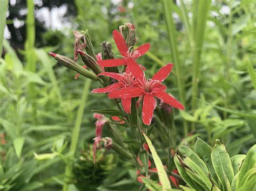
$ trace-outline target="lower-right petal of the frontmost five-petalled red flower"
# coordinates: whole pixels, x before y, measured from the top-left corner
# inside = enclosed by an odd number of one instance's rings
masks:
[[[184,110],[183,104],[178,102],[173,96],[165,93],[163,90],[156,90],[154,96],[158,97],[160,100],[163,100],[166,104],[171,105],[173,108]]]

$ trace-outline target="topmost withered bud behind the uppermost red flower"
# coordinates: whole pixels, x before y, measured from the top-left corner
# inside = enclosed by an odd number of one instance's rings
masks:
[[[137,41],[134,25],[125,23],[124,25],[119,26],[119,31],[124,37],[127,47],[133,47]]]

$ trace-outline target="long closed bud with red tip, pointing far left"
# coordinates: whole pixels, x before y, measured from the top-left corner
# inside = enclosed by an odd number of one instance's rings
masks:
[[[72,60],[66,56],[55,54],[55,53],[49,53],[49,54],[51,56],[53,56],[55,58],[55,60],[57,60],[61,65],[65,66],[67,68],[70,68],[85,77],[88,77],[94,81],[97,81],[97,76],[95,74],[93,74],[89,70],[83,68],[83,66],[80,66],[74,60]]]

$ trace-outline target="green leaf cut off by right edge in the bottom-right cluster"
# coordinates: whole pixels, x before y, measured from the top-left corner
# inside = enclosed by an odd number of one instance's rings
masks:
[[[244,162],[242,162],[241,169],[238,173],[237,188],[241,187],[244,183],[242,180],[245,174],[253,167],[256,166],[256,145],[253,145],[247,152]]]

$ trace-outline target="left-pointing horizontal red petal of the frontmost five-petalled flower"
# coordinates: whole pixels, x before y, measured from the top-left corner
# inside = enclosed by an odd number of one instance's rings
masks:
[[[129,98],[129,97],[138,97],[144,95],[145,91],[141,88],[121,88],[118,90],[111,91],[109,93],[109,98]]]

